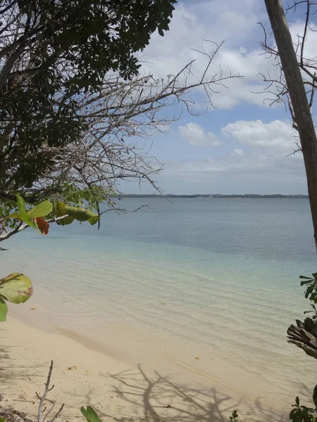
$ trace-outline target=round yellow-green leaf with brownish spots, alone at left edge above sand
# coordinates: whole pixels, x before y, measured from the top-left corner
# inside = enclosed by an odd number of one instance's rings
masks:
[[[0,295],[9,302],[26,302],[32,293],[32,281],[24,274],[12,273],[0,279]]]

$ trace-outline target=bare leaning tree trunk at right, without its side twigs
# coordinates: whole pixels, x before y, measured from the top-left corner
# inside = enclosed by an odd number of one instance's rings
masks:
[[[287,89],[292,101],[294,117],[297,123],[299,139],[304,156],[311,217],[313,219],[313,234],[317,248],[317,139],[313,119],[309,109],[301,71],[297,63],[281,0],[265,0],[268,18],[275,37],[282,71],[284,72]]]

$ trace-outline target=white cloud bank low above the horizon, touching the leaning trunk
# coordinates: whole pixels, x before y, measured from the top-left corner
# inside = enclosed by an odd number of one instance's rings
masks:
[[[185,129],[187,127],[182,127],[182,130]],[[227,149],[223,155],[214,158],[166,162],[164,176],[201,184],[227,180],[235,186],[240,183],[242,187],[247,181],[258,182],[259,191],[261,184],[266,182],[267,186],[283,183],[283,186],[290,186],[290,190],[292,184],[296,184],[302,186],[304,192],[306,176],[302,153],[287,157],[296,148],[292,132],[294,129],[290,122],[238,120],[223,127],[222,133],[230,138],[229,142],[246,148]]]

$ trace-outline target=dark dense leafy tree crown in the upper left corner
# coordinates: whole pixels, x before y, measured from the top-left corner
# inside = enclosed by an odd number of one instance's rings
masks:
[[[41,148],[76,141],[87,129],[82,93],[105,75],[137,75],[133,55],[176,0],[4,0],[0,5],[0,196],[31,187],[54,165]],[[12,172],[15,163],[15,171]]]

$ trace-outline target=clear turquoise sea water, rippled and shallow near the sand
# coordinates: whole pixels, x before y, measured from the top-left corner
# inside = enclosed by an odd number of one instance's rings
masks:
[[[1,267],[32,278],[32,300],[51,312],[52,324],[99,343],[108,344],[109,323],[124,324],[239,390],[256,383],[265,397],[272,382],[276,394],[311,388],[311,358],[285,340],[309,305],[298,276],[316,271],[308,200],[118,203],[143,204],[135,213],[107,212],[99,231],[52,224],[42,238],[27,230],[6,242]],[[192,362],[196,354],[201,361]]]

